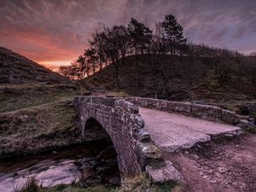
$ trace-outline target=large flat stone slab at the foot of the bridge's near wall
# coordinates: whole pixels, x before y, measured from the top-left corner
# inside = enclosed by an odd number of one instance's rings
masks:
[[[169,160],[166,160],[166,166],[163,167],[146,166],[146,172],[152,183],[183,182],[182,175]]]

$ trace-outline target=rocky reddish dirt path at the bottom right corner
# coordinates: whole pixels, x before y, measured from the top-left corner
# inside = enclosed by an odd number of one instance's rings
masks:
[[[256,135],[166,153],[186,180],[184,192],[255,192]]]

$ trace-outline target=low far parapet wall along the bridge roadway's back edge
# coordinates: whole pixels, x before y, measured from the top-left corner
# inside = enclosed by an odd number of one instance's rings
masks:
[[[172,102],[145,97],[128,97],[126,101],[143,108],[156,108],[170,113],[180,113],[200,119],[207,119],[231,125],[237,125],[245,130],[255,130],[254,119],[237,115],[224,108],[190,102]]]

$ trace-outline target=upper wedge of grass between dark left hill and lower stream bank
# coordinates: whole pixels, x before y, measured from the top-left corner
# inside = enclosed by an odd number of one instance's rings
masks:
[[[2,84],[0,113],[72,98],[83,91],[83,88],[73,84]]]

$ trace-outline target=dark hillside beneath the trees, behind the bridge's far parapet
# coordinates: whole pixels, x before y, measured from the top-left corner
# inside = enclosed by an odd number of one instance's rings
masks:
[[[122,91],[132,96],[204,102],[233,110],[246,104],[255,110],[256,57],[198,59],[183,56],[173,60],[166,55],[160,65],[164,73],[155,73],[147,60],[147,55],[141,56],[137,67],[134,56],[125,58],[125,64],[119,67]],[[93,87],[114,90],[114,74],[110,64],[86,82]]]

